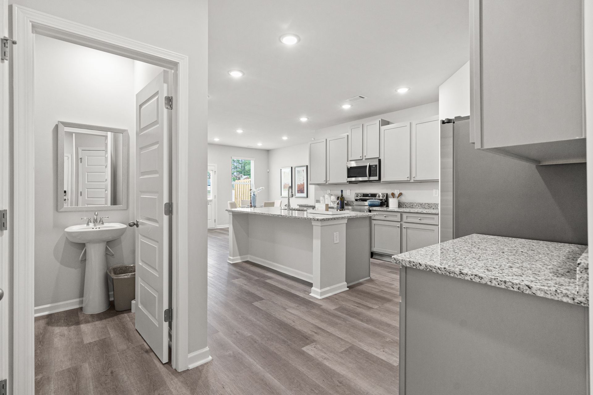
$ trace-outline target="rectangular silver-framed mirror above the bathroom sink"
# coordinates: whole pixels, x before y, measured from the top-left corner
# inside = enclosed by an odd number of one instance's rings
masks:
[[[127,210],[126,129],[58,122],[58,211]]]

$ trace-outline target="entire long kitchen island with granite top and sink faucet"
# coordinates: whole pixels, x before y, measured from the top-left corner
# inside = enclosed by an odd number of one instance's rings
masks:
[[[311,214],[280,207],[233,208],[229,264],[251,261],[311,282],[321,299],[370,278],[369,213]]]

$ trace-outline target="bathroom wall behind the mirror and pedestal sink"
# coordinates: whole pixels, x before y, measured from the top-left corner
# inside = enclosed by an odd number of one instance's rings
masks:
[[[79,256],[84,245],[67,240],[64,229],[95,211],[56,210],[56,124],[127,129],[133,143],[136,121],[132,60],[43,36],[36,37],[35,56],[35,306],[43,306],[82,297],[85,264]],[[97,211],[111,222],[132,218],[130,210]],[[107,256],[108,266],[133,264],[133,232],[109,246],[116,255]]]

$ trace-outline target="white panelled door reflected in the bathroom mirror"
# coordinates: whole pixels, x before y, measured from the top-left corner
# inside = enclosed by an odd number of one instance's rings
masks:
[[[106,205],[106,166],[107,158],[102,147],[81,147],[78,176],[78,195],[82,206]]]

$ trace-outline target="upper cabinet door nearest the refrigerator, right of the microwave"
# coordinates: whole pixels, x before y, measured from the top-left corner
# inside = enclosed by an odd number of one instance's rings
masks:
[[[438,181],[441,121],[438,115],[412,122],[412,181]]]

